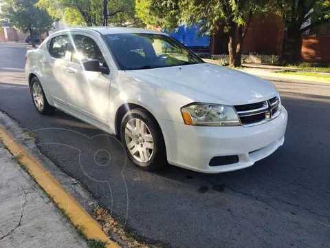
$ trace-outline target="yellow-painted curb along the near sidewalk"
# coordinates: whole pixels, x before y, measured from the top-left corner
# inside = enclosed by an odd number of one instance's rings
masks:
[[[65,190],[61,183],[58,183],[23,146],[14,141],[14,138],[1,125],[0,138],[13,156],[19,156],[19,162],[25,166],[30,176],[52,197],[58,207],[65,209],[65,214],[74,225],[80,227],[88,239],[107,242],[105,245],[107,248],[120,248],[117,243],[108,238],[100,224]]]

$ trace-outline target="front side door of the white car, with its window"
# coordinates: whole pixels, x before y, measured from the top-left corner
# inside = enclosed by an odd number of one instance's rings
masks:
[[[75,34],[71,61],[64,70],[67,107],[73,114],[100,127],[109,128],[110,74],[88,72],[82,62],[98,59],[107,66],[100,45],[91,34]]]

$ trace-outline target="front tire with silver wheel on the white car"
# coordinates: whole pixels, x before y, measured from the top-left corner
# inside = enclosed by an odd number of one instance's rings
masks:
[[[167,163],[162,131],[155,118],[144,109],[133,109],[122,118],[120,138],[129,159],[147,171]]]

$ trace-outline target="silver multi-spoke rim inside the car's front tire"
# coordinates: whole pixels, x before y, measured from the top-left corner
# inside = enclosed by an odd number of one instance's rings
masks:
[[[125,128],[125,142],[129,152],[137,161],[147,163],[154,151],[153,135],[148,126],[138,118],[132,118]]]

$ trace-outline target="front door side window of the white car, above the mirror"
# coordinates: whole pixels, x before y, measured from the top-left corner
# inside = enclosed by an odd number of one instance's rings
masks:
[[[90,59],[98,59],[100,65],[104,65],[104,57],[98,44],[84,35],[76,35],[74,39],[74,48],[72,49],[72,62],[80,63]]]

